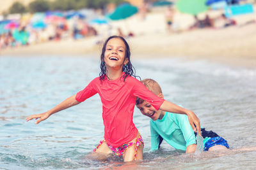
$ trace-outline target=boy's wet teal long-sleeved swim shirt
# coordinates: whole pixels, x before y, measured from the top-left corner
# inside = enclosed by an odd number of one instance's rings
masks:
[[[195,133],[188,116],[166,112],[162,120],[150,120],[151,150],[158,150],[159,135],[177,150],[186,151],[187,146],[196,144]]]

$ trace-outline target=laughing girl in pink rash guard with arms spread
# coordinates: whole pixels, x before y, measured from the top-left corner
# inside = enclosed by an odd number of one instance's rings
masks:
[[[100,55],[100,76],[92,80],[85,89],[68,97],[51,110],[31,115],[26,120],[39,118],[35,123],[38,124],[52,114],[75,106],[98,93],[102,101],[104,139],[93,152],[122,155],[125,162],[143,159],[143,139],[132,122],[136,96],[148,101],[156,110],[188,115],[194,131],[195,125],[196,129],[200,129],[200,122],[195,113],[157,97],[134,78],[136,76],[130,55],[129,45],[124,38],[109,37]]]

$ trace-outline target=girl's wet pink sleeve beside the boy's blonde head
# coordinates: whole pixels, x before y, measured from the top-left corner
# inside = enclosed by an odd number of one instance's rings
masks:
[[[135,79],[135,78],[134,78]],[[153,92],[147,89],[143,83],[139,80],[134,81],[134,88],[132,89],[133,95],[140,97],[144,101],[150,103],[156,110],[159,110],[160,106],[163,104],[164,99],[156,96]]]

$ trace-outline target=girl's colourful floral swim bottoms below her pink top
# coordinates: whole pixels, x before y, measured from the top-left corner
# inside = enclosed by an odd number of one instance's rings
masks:
[[[97,148],[99,148],[100,145],[102,145],[103,142],[106,142],[105,139],[103,139],[102,141],[100,141],[99,145],[93,150],[93,152],[96,152]],[[106,143],[108,145],[108,143]],[[136,139],[135,142],[129,142],[129,143],[125,143],[124,145],[119,146],[118,148],[115,148],[111,145],[108,145],[108,147],[112,150],[112,152],[117,155],[118,157],[122,156],[125,152],[125,150],[127,150],[128,148],[130,148],[132,145],[135,146],[135,155],[134,155],[134,160],[136,160],[136,153],[137,153],[137,149],[140,145],[143,145],[144,147],[144,142],[143,139],[141,137],[141,135],[139,134],[138,138]]]

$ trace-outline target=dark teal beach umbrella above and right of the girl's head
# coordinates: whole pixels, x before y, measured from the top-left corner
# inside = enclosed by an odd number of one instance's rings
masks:
[[[138,8],[136,6],[132,6],[131,4],[122,4],[107,17],[109,17],[111,20],[123,20],[125,18],[131,17],[137,12]]]

